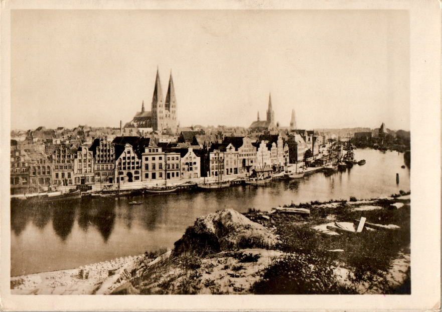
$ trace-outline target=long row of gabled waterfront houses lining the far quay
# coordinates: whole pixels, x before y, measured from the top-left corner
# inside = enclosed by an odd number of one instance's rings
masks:
[[[23,143],[23,142],[22,142]],[[54,185],[130,183],[220,177],[284,170],[320,152],[309,131],[287,135],[206,136],[181,133],[177,142],[152,137],[107,136],[91,144],[19,144],[11,141],[13,193]],[[35,147],[35,148],[33,148]],[[310,153],[310,154],[309,154]]]

